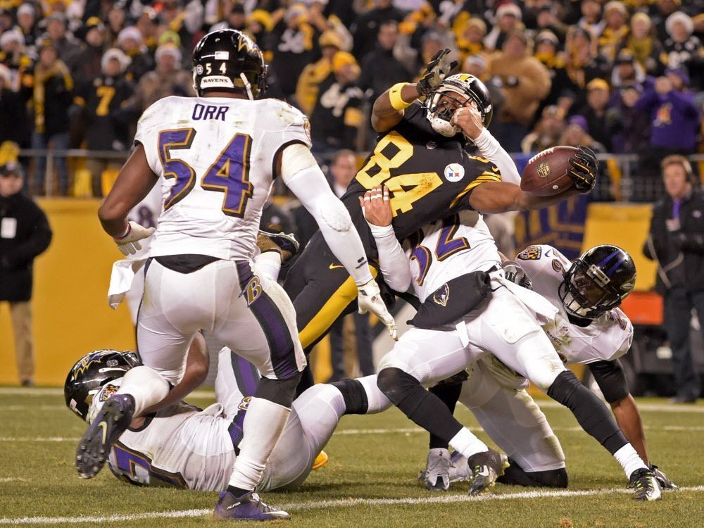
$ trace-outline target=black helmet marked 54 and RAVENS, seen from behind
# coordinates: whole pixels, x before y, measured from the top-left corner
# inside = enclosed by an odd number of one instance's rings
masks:
[[[210,32],[193,50],[193,87],[199,96],[217,89],[258,99],[266,91],[267,71],[259,46],[241,31]]]

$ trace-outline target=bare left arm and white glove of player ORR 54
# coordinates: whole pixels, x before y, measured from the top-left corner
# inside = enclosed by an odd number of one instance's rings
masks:
[[[113,237],[125,255],[142,249],[139,240],[154,232],[153,227],[146,229],[137,222],[127,222],[127,214],[149,194],[156,182],[157,177],[146,161],[144,146],[137,144],[137,148],[122,166],[115,185],[100,204],[98,218],[103,230]]]

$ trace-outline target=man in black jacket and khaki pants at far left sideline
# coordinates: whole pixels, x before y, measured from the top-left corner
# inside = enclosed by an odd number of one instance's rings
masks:
[[[20,384],[34,384],[32,345],[32,263],[46,251],[51,229],[46,215],[21,192],[22,166],[0,169],[0,301],[10,303]]]

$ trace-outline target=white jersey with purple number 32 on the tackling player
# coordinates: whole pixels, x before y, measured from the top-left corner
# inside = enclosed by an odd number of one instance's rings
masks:
[[[410,259],[411,284],[421,302],[450,279],[501,268],[494,238],[475,211],[461,211],[426,225],[420,233],[409,237],[403,248]]]

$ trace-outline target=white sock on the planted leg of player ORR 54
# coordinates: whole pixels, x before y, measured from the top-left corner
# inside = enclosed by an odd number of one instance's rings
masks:
[[[244,438],[234,460],[230,486],[255,489],[291,410],[263,398],[252,398],[244,417]]]

